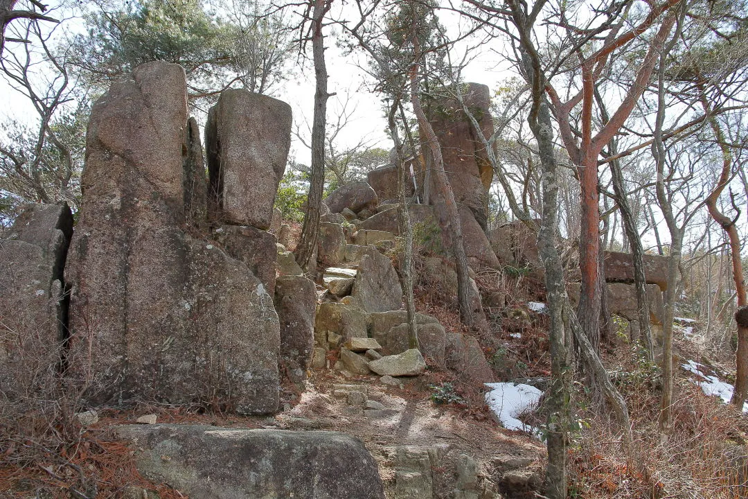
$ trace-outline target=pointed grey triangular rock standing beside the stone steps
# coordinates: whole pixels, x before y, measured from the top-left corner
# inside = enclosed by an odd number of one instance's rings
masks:
[[[358,264],[352,296],[369,313],[402,308],[402,287],[390,259],[369,248]]]

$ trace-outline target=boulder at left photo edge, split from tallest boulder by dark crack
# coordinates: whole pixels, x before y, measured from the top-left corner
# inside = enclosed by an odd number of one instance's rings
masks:
[[[67,337],[64,261],[73,235],[67,204],[34,204],[0,240],[0,407],[53,399]]]

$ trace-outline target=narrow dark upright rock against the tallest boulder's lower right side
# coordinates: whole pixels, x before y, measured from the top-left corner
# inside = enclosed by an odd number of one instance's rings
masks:
[[[281,323],[281,365],[294,382],[307,377],[314,347],[316,287],[303,276],[275,281],[275,310]]]

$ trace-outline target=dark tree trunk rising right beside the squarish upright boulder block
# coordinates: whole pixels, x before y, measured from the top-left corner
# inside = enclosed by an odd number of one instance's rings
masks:
[[[312,165],[307,196],[307,213],[301,228],[301,240],[296,248],[298,265],[306,272],[316,267],[317,238],[319,237],[319,212],[322,192],[325,189],[325,125],[327,113],[328,73],[325,65],[325,40],[322,35],[322,20],[330,8],[331,0],[314,0],[312,14],[312,54],[314,61],[314,117],[312,122]]]

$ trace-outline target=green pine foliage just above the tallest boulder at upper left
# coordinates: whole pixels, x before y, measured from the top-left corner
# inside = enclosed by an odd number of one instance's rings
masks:
[[[135,0],[90,13],[88,33],[74,39],[73,66],[89,85],[109,81],[149,61],[181,64],[194,97],[238,81],[257,93],[286,79],[289,35],[281,19],[260,16],[259,3],[237,1],[218,19],[200,0]]]

